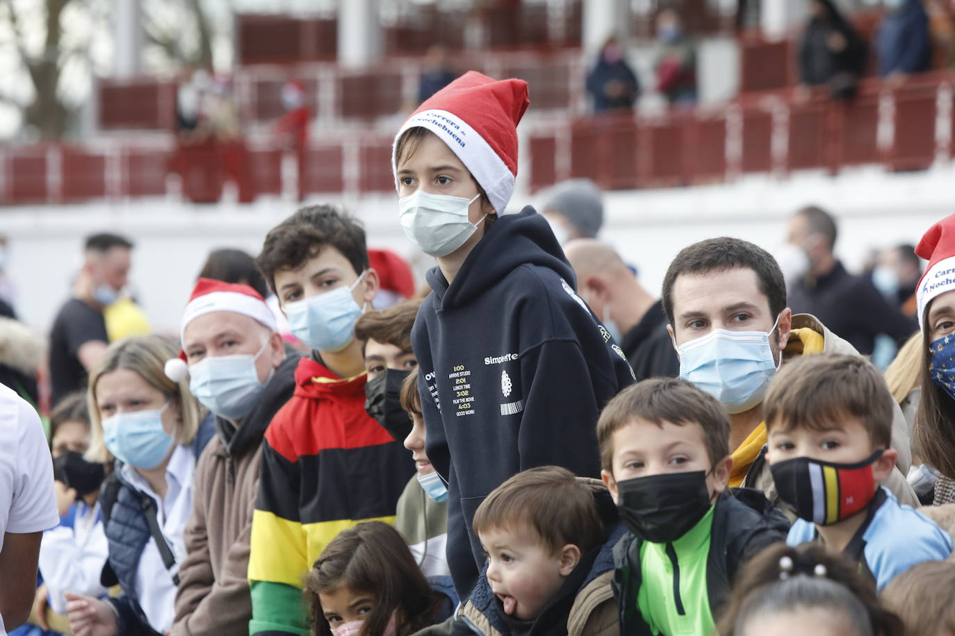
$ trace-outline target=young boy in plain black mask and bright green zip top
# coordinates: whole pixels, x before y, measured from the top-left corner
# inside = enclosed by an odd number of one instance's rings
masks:
[[[629,530],[614,548],[621,633],[712,633],[739,565],[789,527],[761,492],[728,487],[719,402],[684,380],[644,380],[610,400],[597,438]]]

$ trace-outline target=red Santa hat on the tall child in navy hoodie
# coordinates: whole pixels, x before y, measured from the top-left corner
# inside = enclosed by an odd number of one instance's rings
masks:
[[[495,80],[469,71],[435,92],[394,135],[392,169],[398,187],[397,142],[410,128],[435,133],[475,177],[499,215],[514,194],[518,123],[530,105],[527,82]]]

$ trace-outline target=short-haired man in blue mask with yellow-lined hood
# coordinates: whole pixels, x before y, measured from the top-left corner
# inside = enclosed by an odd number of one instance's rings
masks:
[[[786,359],[858,352],[816,317],[794,316],[773,256],[738,238],[684,248],[664,277],[663,302],[680,378],[710,393],[730,416],[730,485],[757,488],[776,502],[762,410],[770,380]],[[893,415],[899,461],[884,485],[900,502],[918,505],[904,478],[911,462],[908,428],[898,407]]]

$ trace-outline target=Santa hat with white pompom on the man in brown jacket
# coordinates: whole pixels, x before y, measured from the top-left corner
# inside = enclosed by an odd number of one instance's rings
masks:
[[[265,304],[265,299],[248,285],[223,282],[212,278],[200,278],[192,290],[192,296],[182,312],[180,327],[181,346],[185,346],[185,328],[190,322],[212,312],[235,312],[254,318],[268,329],[278,331],[275,315]],[[166,377],[174,382],[185,380],[188,368],[185,352],[179,358],[166,360]]]

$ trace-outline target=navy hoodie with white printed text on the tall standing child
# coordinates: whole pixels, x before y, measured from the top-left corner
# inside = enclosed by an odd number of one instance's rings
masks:
[[[599,477],[597,418],[633,372],[533,208],[500,216],[450,286],[437,267],[428,282],[412,344],[428,459],[448,482],[448,565],[465,599],[484,563],[477,506],[534,466]]]

